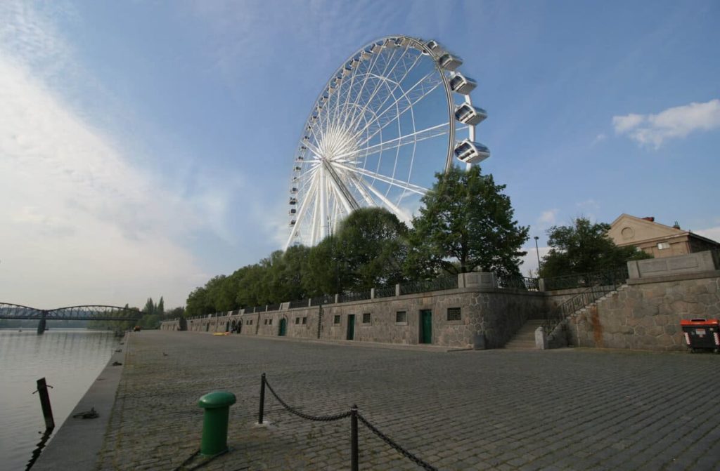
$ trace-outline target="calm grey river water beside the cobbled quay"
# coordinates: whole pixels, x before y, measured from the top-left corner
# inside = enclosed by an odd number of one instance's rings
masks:
[[[40,399],[32,394],[36,381],[45,377],[53,386],[50,403],[57,432],[122,342],[109,331],[50,326],[42,335],[34,328],[0,330],[2,470],[24,470],[45,431]]]

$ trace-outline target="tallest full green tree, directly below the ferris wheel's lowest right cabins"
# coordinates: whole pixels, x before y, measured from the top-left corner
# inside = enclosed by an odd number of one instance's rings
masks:
[[[437,181],[423,196],[424,208],[413,219],[406,270],[411,278],[427,278],[444,271],[494,271],[518,274],[528,227],[513,220],[505,185],[482,175],[475,165],[436,174]]]

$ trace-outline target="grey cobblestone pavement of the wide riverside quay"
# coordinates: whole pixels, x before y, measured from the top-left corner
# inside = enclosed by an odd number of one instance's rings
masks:
[[[720,470],[720,356],[359,348],[143,331],[127,356],[98,469],[174,470],[199,448],[211,390],[235,393],[231,451],[202,470],[346,470],[352,404],[441,470]],[[361,470],[415,470],[360,425]]]

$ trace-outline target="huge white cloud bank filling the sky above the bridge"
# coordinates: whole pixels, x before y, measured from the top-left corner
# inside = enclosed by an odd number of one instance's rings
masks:
[[[207,279],[182,234],[200,219],[0,55],[0,301],[184,303]]]

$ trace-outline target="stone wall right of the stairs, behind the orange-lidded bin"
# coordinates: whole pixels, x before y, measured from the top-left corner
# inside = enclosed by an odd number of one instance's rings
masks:
[[[684,350],[682,319],[720,317],[720,271],[631,279],[569,319],[579,347]]]

